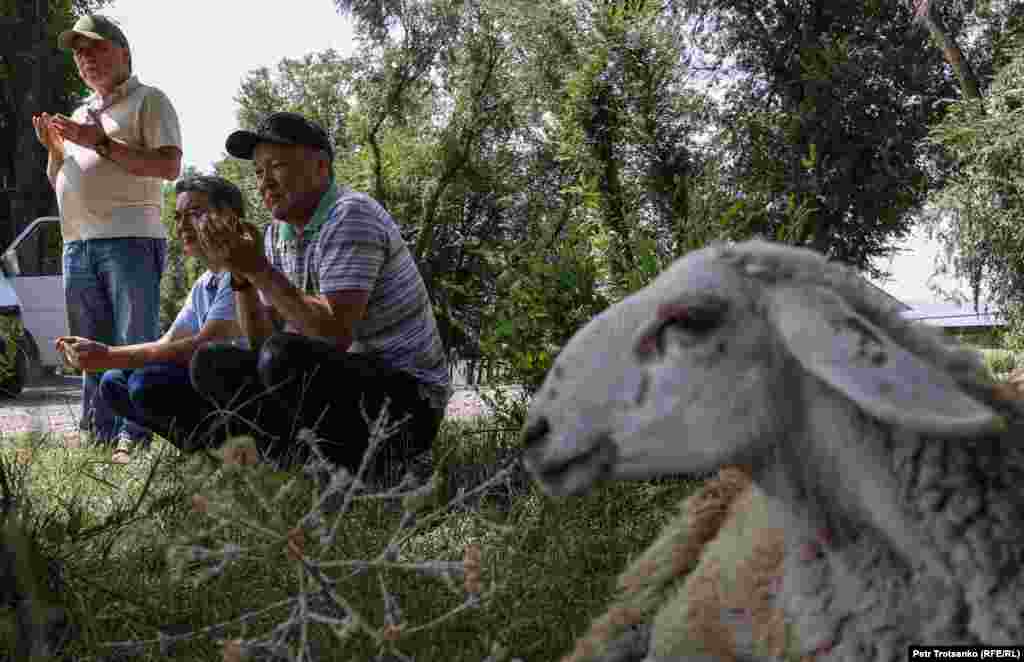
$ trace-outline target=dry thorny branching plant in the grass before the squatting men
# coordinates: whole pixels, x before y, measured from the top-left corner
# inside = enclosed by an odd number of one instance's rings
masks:
[[[193,577],[196,585],[221,575],[230,565],[242,560],[266,560],[267,552],[281,552],[293,564],[297,583],[294,594],[273,604],[262,605],[245,612],[238,618],[209,625],[180,634],[161,632],[156,638],[113,642],[106,646],[125,654],[138,654],[150,647],[158,647],[162,654],[168,654],[179,642],[208,636],[222,644],[225,662],[233,660],[274,659],[290,662],[309,662],[315,653],[310,639],[310,626],[321,624],[344,643],[357,632],[372,637],[379,655],[390,659],[414,660],[402,652],[401,645],[409,635],[436,627],[467,610],[479,609],[490,598],[499,586],[492,580],[484,581],[481,566],[481,549],[471,544],[465,548],[462,560],[430,560],[419,563],[399,563],[398,554],[402,545],[427,526],[445,518],[453,508],[465,504],[468,499],[482,494],[497,484],[509,480],[514,461],[506,462],[488,480],[472,490],[460,489],[446,504],[427,512],[427,506],[434,502],[433,494],[439,486],[436,470],[429,480],[423,482],[412,472],[407,472],[401,481],[386,489],[377,488],[365,481],[373,459],[382,445],[394,437],[404,420],[391,422],[388,416],[389,402],[385,400],[376,420],[371,421],[364,411],[364,418],[371,426],[370,444],[355,475],[344,467],[331,464],[317,447],[319,441],[309,429],[302,429],[298,440],[309,449],[308,460],[302,472],[313,479],[315,488],[309,509],[297,522],[287,523],[280,506],[284,499],[298,486],[301,477],[293,475],[281,484],[270,495],[254,481],[259,457],[251,438],[239,437],[229,440],[220,449],[222,464],[219,473],[233,474],[241,487],[238,492],[248,494],[206,494],[191,496],[191,506],[212,520],[212,526],[191,538],[173,545],[168,551],[169,565],[175,569],[177,578],[182,578],[187,570],[199,569]],[[239,506],[239,497],[254,499],[262,515],[253,516],[249,508]],[[334,544],[345,524],[346,515],[358,500],[387,500],[401,508],[397,527],[390,533],[390,540],[375,558],[350,560],[331,558],[337,552]],[[506,527],[483,520],[501,533],[509,533]],[[231,542],[221,542],[219,547],[200,544],[198,541],[216,539],[228,527],[243,527],[258,543],[242,546]],[[221,535],[221,538],[224,536]],[[326,571],[347,570],[350,577],[377,571],[381,601],[384,607],[384,623],[375,623],[365,612],[360,612],[351,601],[338,590],[337,580]],[[449,612],[424,623],[404,620],[396,595],[389,590],[381,571],[404,571],[438,579],[450,590],[464,599]],[[273,614],[287,613],[276,626],[269,631],[248,638],[228,638],[227,633],[257,619]],[[495,657],[495,656],[492,656]],[[500,656],[504,657],[504,656]]]

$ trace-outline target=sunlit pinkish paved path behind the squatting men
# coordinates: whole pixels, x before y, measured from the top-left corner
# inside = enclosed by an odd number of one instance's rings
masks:
[[[13,400],[0,400],[0,440],[31,430],[49,430],[70,444],[78,442],[81,412],[80,377],[46,376],[27,386]],[[457,389],[449,401],[450,418],[471,418],[486,412],[475,391]]]

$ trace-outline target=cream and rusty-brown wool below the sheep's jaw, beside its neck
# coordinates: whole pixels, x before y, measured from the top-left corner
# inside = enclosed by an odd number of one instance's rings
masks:
[[[782,530],[741,467],[725,467],[683,500],[679,513],[618,578],[618,596],[563,662],[604,659],[625,626],[651,622],[651,662],[735,661],[737,652],[810,662],[773,604]],[[616,615],[632,615],[622,618]],[[703,656],[703,657],[701,657]]]

